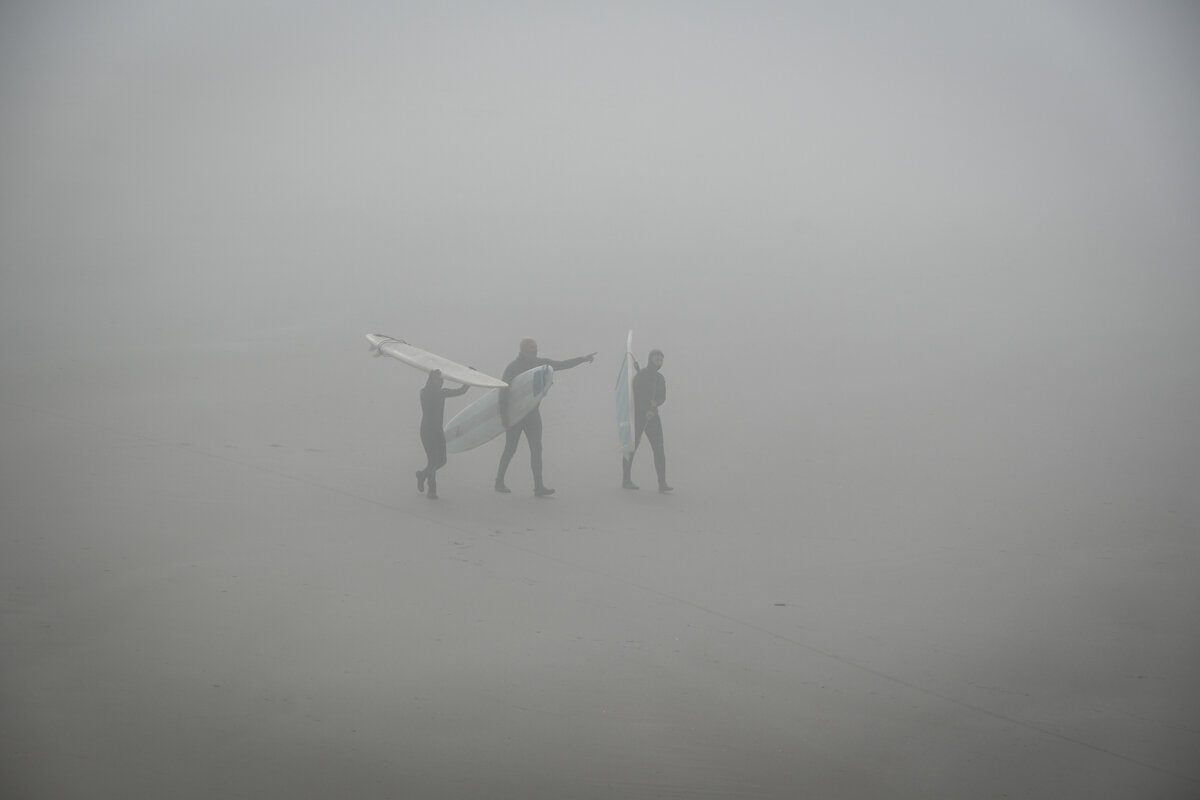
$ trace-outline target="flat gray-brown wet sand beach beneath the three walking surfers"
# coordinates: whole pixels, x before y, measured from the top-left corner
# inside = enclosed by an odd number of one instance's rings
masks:
[[[649,452],[618,488],[596,367],[544,405],[556,499],[493,441],[436,503],[365,347],[7,362],[5,796],[1200,792],[1190,411],[842,383],[714,432],[684,361],[674,495]]]

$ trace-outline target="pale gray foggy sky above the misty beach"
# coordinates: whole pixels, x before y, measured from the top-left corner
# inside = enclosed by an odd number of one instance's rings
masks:
[[[619,338],[665,300],[676,327],[788,348],[839,335],[834,312],[882,339],[980,312],[1004,337],[1196,331],[1190,4],[16,2],[0,22],[8,345],[448,317],[511,338],[530,315]]]

